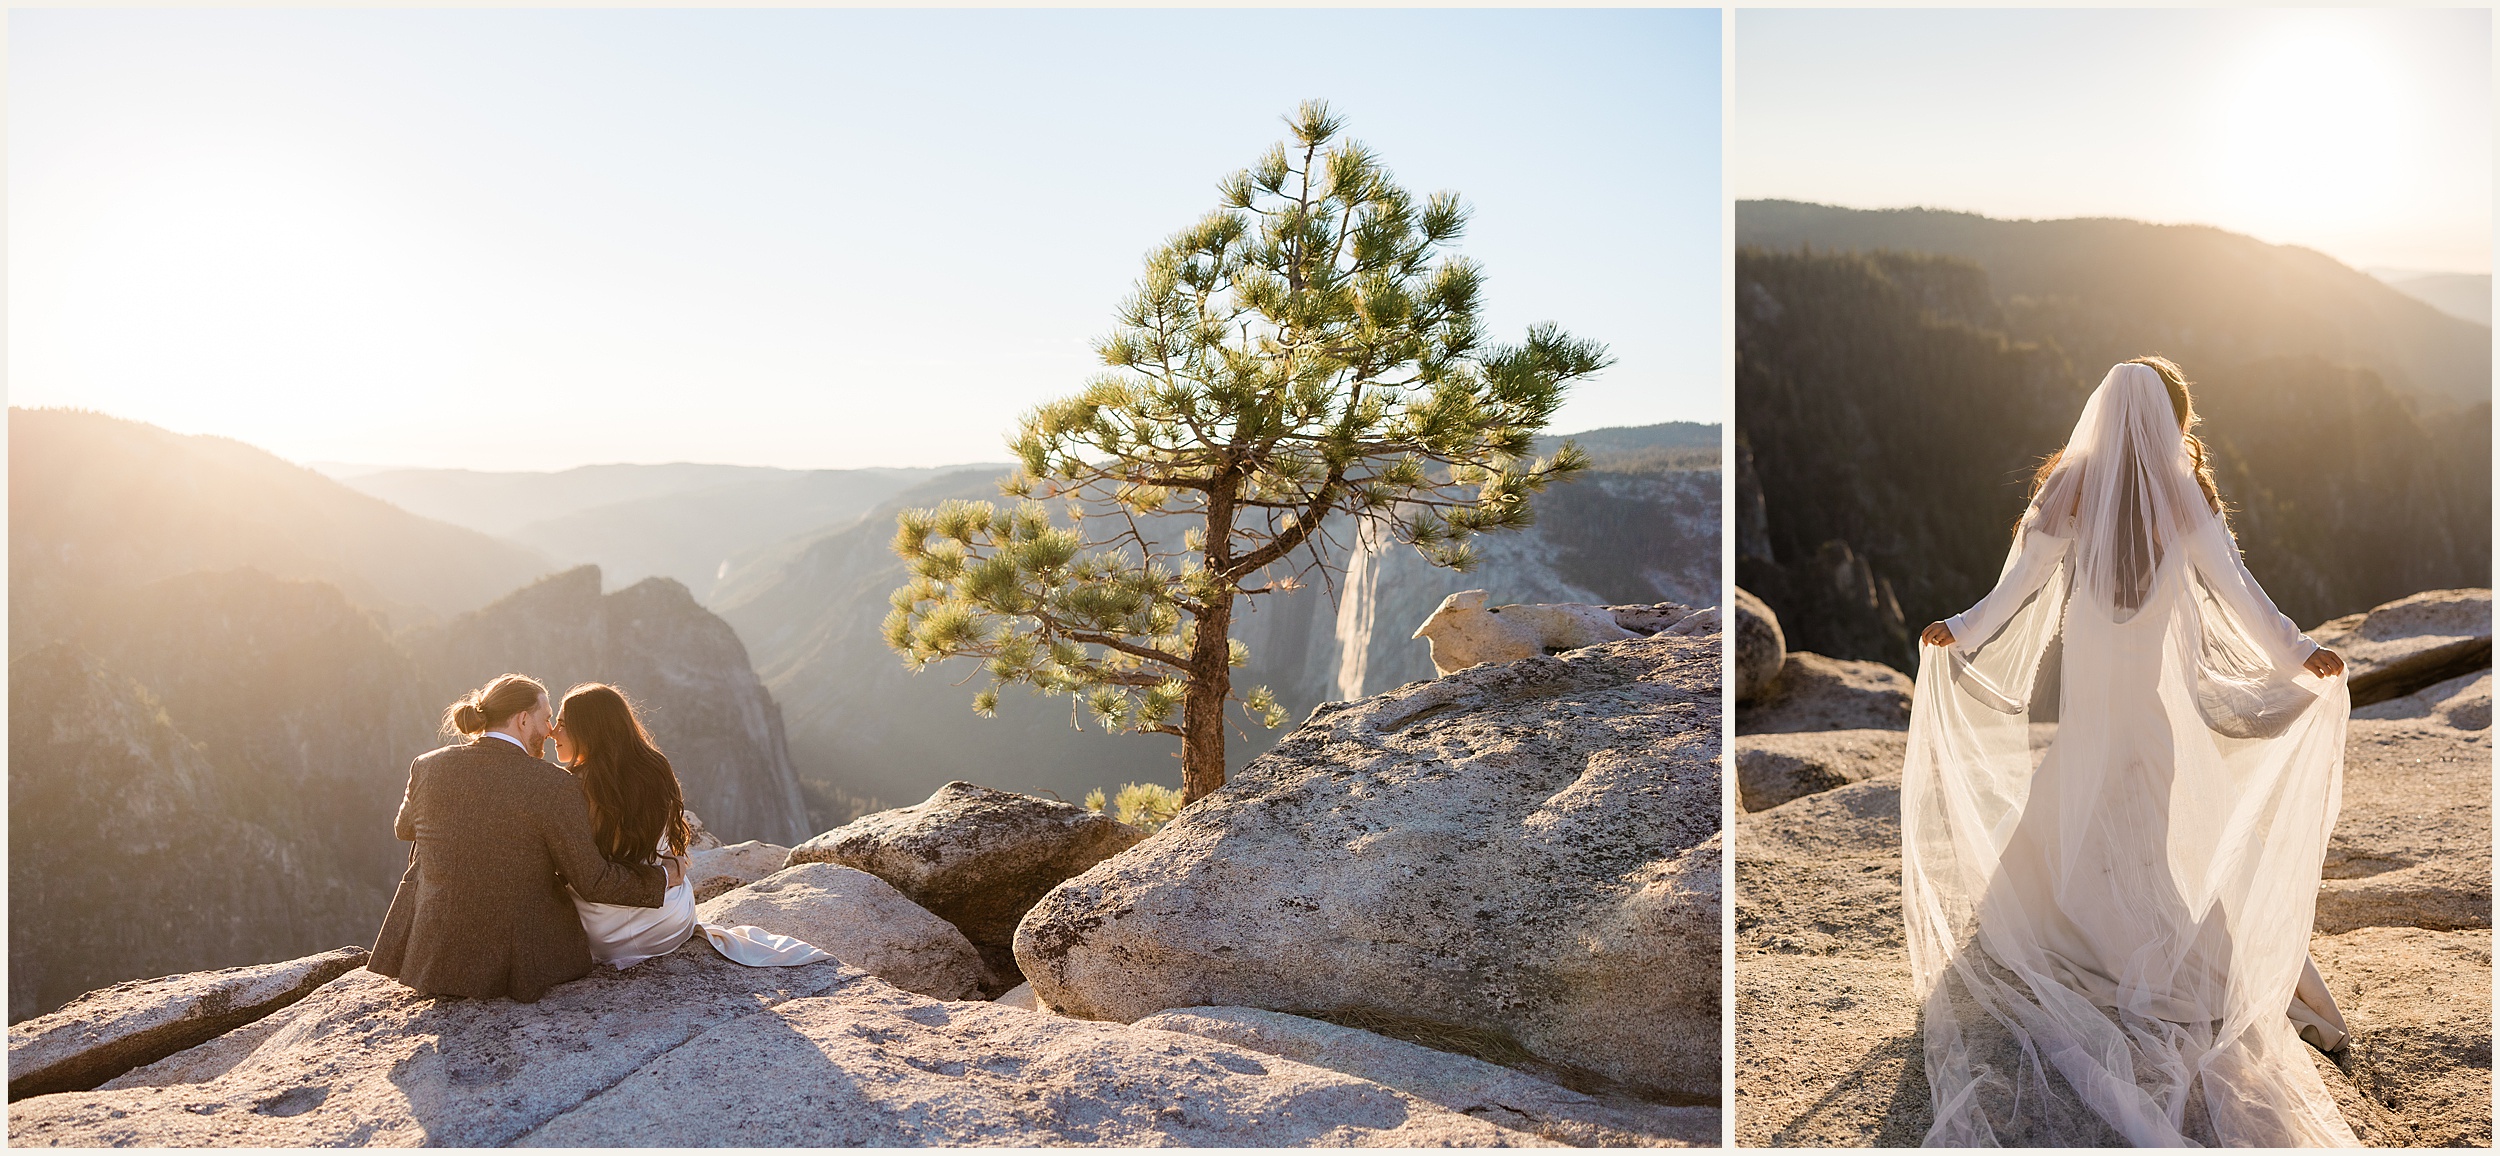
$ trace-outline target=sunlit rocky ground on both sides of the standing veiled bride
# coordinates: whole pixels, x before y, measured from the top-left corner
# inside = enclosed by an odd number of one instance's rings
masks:
[[[2310,953],[2352,1046],[2320,1073],[2362,1143],[2490,1146],[2490,591],[2312,638],[2352,648],[2355,681],[2398,671],[2375,686],[2402,691],[2355,708],[2345,743]],[[2455,671],[2475,653],[2485,668]],[[1915,1146],[1930,1106],[1900,921],[1902,733],[1865,723],[1882,673],[1815,683],[1770,721],[1855,726],[1748,733],[1738,716],[1735,1138]],[[2032,728],[2035,746],[2052,736]]]

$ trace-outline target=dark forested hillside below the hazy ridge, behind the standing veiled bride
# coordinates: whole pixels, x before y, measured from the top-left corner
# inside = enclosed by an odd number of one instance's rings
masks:
[[[2072,350],[2180,355],[2150,328],[2050,318],[1962,258],[1738,250],[1738,583],[1792,648],[1912,666],[1918,628],[1995,583],[2032,468],[2122,360]],[[2218,353],[2268,348],[2238,330],[2192,348],[2200,433],[2285,613],[2490,583],[2488,400],[2318,353]]]

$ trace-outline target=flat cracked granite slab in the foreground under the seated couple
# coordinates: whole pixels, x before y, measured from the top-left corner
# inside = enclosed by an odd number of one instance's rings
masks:
[[[350,971],[112,1088],[10,1106],[12,1146],[1502,1146],[1390,1086],[1168,1031],[945,1003],[840,963],[690,946],[540,1003]],[[255,1026],[260,1028],[260,1026]],[[168,1083],[140,1083],[165,1078]]]

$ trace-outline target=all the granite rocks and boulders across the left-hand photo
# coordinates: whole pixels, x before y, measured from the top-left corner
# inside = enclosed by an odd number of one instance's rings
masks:
[[[125,983],[10,1031],[12,1076],[82,1063],[72,1083],[88,1091],[25,1093],[8,1138],[1715,1143],[1715,638],[1655,638],[1335,703],[1288,738],[1290,761],[1142,843],[970,783],[788,853],[698,838],[705,918],[838,956],[798,968],[735,966],[698,936],[540,1003],[420,996],[358,968],[355,951]],[[1210,843],[1240,851],[1238,891],[1188,891],[1212,881],[1190,858]],[[1218,933],[1235,941],[1112,913],[1120,951],[1160,936],[1165,961],[1308,981],[1312,941],[1260,936],[1260,921],[1372,933],[1325,991],[1228,981],[1232,998],[1212,1001],[1152,968],[1095,983],[1105,963],[1082,963],[1090,941],[1070,928],[1092,926],[1082,911],[1102,881],[1152,891],[1160,873],[1185,876],[1170,893],[1232,908]],[[1015,896],[982,901],[965,881]],[[1048,998],[1035,986],[958,998],[998,983],[980,948],[1000,923],[1018,943],[1042,928],[1065,946],[1028,953],[1050,968],[1035,983]],[[1070,983],[1070,961],[1092,978]],[[188,1023],[182,1036],[160,1031],[168,1021]],[[115,1043],[138,1036],[142,1048]],[[1688,1088],[1712,1103],[1678,1103]]]

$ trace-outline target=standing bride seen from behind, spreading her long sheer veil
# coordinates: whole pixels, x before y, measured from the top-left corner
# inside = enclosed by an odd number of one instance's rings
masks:
[[[1998,588],[1922,636],[1902,916],[1930,1146],[2358,1146],[2302,1046],[2345,1041],[2308,961],[2342,661],[2248,573],[2192,425],[2178,365],[2110,368]]]

